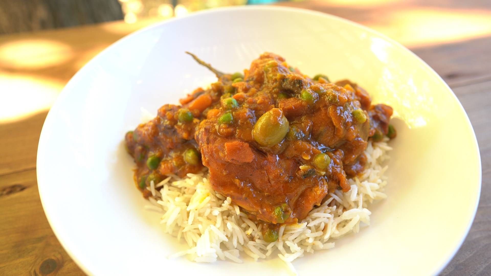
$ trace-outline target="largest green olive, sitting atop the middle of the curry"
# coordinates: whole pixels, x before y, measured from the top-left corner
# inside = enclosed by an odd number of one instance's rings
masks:
[[[252,135],[258,144],[273,146],[285,138],[289,126],[283,112],[273,108],[259,117],[252,130]]]

